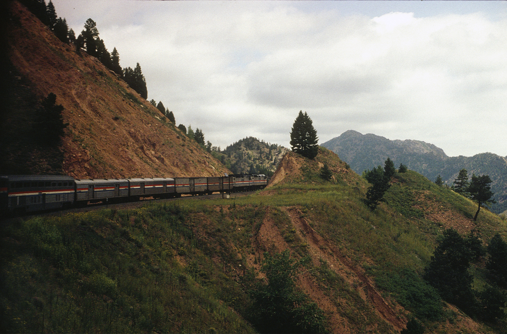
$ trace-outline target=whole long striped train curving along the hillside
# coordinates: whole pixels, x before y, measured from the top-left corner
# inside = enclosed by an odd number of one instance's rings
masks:
[[[34,212],[94,203],[263,189],[264,174],[198,178],[87,179],[56,175],[0,176],[0,212]]]

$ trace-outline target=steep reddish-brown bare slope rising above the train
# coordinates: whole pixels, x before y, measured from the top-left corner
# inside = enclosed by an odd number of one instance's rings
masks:
[[[2,173],[76,178],[230,173],[95,57],[84,51],[78,55],[74,45],[61,43],[24,6],[9,2],[3,15],[12,94],[3,114],[2,130],[9,136],[2,138]],[[61,146],[52,149],[51,163],[47,148],[24,136],[37,110],[35,101],[49,93],[56,94],[69,123]]]

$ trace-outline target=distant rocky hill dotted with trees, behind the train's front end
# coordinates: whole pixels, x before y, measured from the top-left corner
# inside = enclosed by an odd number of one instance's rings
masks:
[[[281,145],[247,137],[227,146],[221,152],[212,152],[212,154],[234,174],[266,174],[270,177],[288,150]]]

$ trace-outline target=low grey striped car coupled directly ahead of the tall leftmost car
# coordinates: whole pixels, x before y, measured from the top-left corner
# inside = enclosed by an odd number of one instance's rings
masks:
[[[99,202],[128,197],[127,179],[76,180],[76,201]]]

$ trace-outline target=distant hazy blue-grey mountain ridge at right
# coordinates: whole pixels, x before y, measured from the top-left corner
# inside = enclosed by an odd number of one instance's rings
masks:
[[[374,134],[362,135],[353,130],[344,132],[322,146],[340,155],[359,174],[377,165],[383,166],[385,159],[390,157],[396,167],[404,163],[431,181],[440,175],[449,186],[453,185],[463,168],[468,171],[468,176],[473,173],[489,175],[497,201],[491,210],[496,213],[507,210],[507,157],[493,153],[449,157],[433,144],[408,139],[389,140]]]

